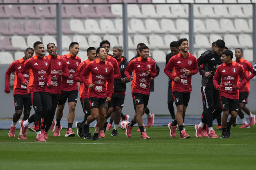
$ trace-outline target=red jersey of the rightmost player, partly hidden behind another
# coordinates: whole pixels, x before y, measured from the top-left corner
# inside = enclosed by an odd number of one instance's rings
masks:
[[[250,79],[252,79],[255,76],[255,74],[251,74],[249,76],[250,72],[253,73],[252,64],[249,61],[247,61],[246,59],[243,59],[243,58],[241,58],[240,60],[236,60],[234,62],[243,66],[244,71],[246,73],[246,76],[249,78],[248,82],[246,82],[245,86],[242,89],[240,89],[239,92],[248,92],[248,93],[250,93],[250,87],[251,87],[250,86]],[[240,82],[241,81],[242,80],[240,78]]]

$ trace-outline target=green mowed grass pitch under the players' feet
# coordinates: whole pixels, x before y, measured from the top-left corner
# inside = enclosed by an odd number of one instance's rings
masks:
[[[64,137],[62,129],[60,137],[49,132],[46,143],[36,143],[31,131],[25,141],[17,139],[19,130],[13,139],[8,130],[0,130],[0,169],[256,169],[256,127],[239,126],[232,127],[230,139],[197,138],[193,126],[186,126],[190,139],[180,139],[179,134],[173,139],[168,127],[150,127],[146,131],[150,140],[141,140],[137,127],[130,139],[118,129],[118,137],[107,131],[102,141]],[[216,133],[220,137],[222,132]]]

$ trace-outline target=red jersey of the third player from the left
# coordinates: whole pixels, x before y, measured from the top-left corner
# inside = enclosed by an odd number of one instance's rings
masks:
[[[68,78],[69,76],[69,70],[68,65],[65,59],[60,57],[60,55],[57,54],[57,56],[52,57],[51,55],[46,56],[48,59],[50,59],[51,62],[51,84],[52,86],[50,88],[46,88],[46,92],[52,93],[52,94],[61,94],[61,78]],[[62,76],[60,76],[58,70],[62,70]]]

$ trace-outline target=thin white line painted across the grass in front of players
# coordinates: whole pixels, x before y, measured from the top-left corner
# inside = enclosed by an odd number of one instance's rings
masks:
[[[36,142],[1,142],[0,143],[36,143]],[[44,142],[40,142],[44,143]],[[64,143],[64,142],[45,142],[47,144],[79,144],[79,145],[156,145],[156,143]],[[251,146],[256,147],[256,145],[247,144],[210,144],[210,143],[157,143],[157,145],[231,145],[231,146]]]

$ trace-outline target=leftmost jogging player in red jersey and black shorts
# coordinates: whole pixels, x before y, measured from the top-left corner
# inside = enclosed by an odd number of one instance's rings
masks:
[[[16,123],[20,119],[20,116],[22,114],[22,109],[24,107],[24,116],[22,120],[28,119],[30,115],[31,110],[31,98],[30,95],[28,95],[27,86],[24,86],[21,83],[21,80],[18,78],[18,71],[24,66],[24,62],[27,59],[30,59],[34,55],[34,49],[27,48],[26,51],[24,51],[24,57],[22,59],[16,60],[12,62],[10,67],[5,73],[5,88],[4,92],[7,94],[10,93],[9,88],[9,80],[10,80],[10,74],[14,72],[14,86],[13,86],[13,98],[14,98],[14,108],[15,113],[12,117],[12,125],[10,126],[10,131],[8,133],[9,137],[13,138],[15,136],[15,129],[16,129]],[[26,70],[23,74],[23,77],[25,80],[29,80],[29,73],[28,70]],[[22,135],[22,133],[19,134],[18,139],[27,139]]]

